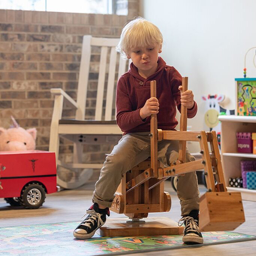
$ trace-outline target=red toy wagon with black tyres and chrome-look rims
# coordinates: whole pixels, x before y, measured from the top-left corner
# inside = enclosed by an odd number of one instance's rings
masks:
[[[37,209],[57,190],[54,152],[0,152],[0,198],[11,206]]]

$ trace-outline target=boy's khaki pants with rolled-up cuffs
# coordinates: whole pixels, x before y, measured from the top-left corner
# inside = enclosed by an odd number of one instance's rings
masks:
[[[93,202],[111,207],[114,193],[120,184],[122,175],[150,157],[149,132],[125,134],[114,146],[111,154],[106,157],[101,169],[99,180],[95,184]],[[158,160],[170,166],[178,158],[177,140],[162,140],[158,142]],[[186,162],[195,158],[186,151]],[[179,176],[177,195],[181,204],[181,216],[189,214],[190,210],[199,209],[199,190],[197,175],[189,172]]]

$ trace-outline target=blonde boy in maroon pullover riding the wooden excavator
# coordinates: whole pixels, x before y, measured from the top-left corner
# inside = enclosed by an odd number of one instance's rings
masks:
[[[197,104],[191,90],[181,94],[181,75],[158,57],[162,52],[160,30],[143,18],[130,21],[122,30],[117,50],[131,59],[130,70],[117,83],[117,124],[124,132],[113,151],[106,157],[99,180],[93,192],[93,205],[88,216],[76,227],[73,235],[79,239],[91,238],[110,215],[109,207],[122,175],[150,156],[150,116],[157,114],[158,128],[175,130],[176,106],[187,106],[187,117],[197,113]],[[150,81],[157,82],[157,98],[150,97]],[[170,166],[178,158],[178,141],[158,142],[158,159]],[[186,162],[195,158],[187,151]],[[203,243],[198,230],[199,192],[195,172],[180,176],[177,195],[181,204],[180,221],[184,222],[185,243]]]

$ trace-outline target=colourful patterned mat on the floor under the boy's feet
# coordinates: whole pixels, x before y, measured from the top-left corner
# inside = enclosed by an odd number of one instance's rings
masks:
[[[0,228],[1,256],[93,256],[145,253],[202,245],[184,245],[181,235],[73,238],[79,221]],[[204,244],[255,240],[256,236],[235,232],[205,232]]]

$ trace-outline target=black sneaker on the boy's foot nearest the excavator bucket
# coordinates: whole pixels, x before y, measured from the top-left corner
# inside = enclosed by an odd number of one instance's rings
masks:
[[[185,244],[203,244],[204,239],[201,232],[198,229],[199,220],[198,220],[198,210],[192,210],[189,215],[183,216],[179,221],[179,226],[184,227],[184,235],[182,241]],[[180,224],[180,222],[182,222]]]

